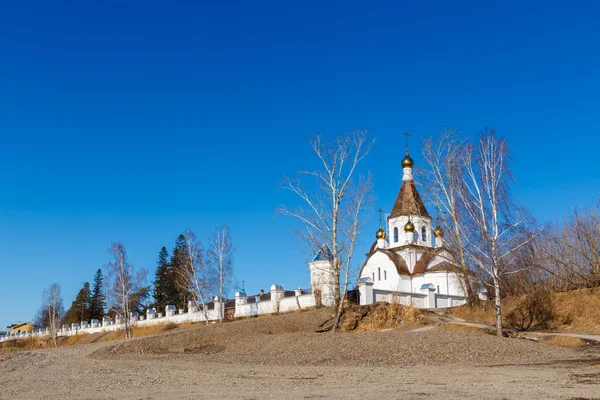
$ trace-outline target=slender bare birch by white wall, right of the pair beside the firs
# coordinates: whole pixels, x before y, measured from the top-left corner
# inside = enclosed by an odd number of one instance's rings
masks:
[[[221,299],[221,311],[219,318],[223,321],[225,312],[224,294],[227,291],[231,278],[233,276],[233,246],[231,244],[231,234],[227,225],[222,225],[215,229],[209,239],[209,248],[207,252],[208,264],[214,271],[217,279],[217,291]]]

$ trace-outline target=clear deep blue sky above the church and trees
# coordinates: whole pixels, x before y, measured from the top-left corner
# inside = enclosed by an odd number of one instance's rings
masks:
[[[249,292],[308,286],[274,211],[315,132],[377,135],[365,167],[388,211],[400,134],[419,166],[444,127],[507,137],[541,221],[600,197],[593,2],[325,3],[3,2],[0,327],[55,281],[68,307],[112,241],[152,274],[161,246],[220,224]]]

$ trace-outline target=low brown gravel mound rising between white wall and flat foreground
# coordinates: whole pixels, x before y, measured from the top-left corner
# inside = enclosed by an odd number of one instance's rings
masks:
[[[316,333],[330,313],[322,309],[200,325],[121,341],[99,349],[94,357],[194,354],[203,361],[219,363],[440,365],[527,363],[574,355],[528,341],[443,331],[434,325],[403,323],[401,319],[396,329],[379,332]]]

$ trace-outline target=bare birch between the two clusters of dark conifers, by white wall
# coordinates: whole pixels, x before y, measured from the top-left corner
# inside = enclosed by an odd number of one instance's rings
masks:
[[[106,265],[110,279],[109,294],[113,300],[113,310],[121,317],[125,325],[125,338],[131,338],[131,312],[134,294],[146,279],[146,270],[135,270],[127,259],[125,246],[121,242],[113,243],[108,252],[112,258]]]

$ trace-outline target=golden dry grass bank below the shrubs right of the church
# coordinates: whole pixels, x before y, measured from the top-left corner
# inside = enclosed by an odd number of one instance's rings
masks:
[[[518,310],[525,300],[526,296],[521,296],[502,301],[505,323],[509,322],[506,317]],[[600,288],[550,293],[548,306],[551,315],[549,320],[545,321],[546,326],[536,326],[534,321],[530,329],[600,334]],[[495,323],[494,307],[490,301],[483,302],[474,309],[467,305],[460,306],[452,313],[467,321]]]

